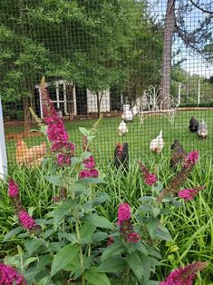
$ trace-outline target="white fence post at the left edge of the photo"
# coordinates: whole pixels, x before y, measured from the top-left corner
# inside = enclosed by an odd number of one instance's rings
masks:
[[[5,130],[3,124],[2,101],[0,96],[0,179],[5,179],[7,174],[7,158],[5,147]]]

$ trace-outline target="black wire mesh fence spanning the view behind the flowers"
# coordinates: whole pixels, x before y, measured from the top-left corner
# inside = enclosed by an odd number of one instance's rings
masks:
[[[29,132],[38,128],[29,107],[44,118],[43,76],[76,145],[82,142],[79,127],[92,127],[102,113],[93,143],[100,161],[113,159],[116,143],[127,142],[131,155],[150,154],[160,130],[165,153],[177,139],[186,151],[212,155],[210,1],[2,0],[0,13],[0,93],[10,165],[31,161],[34,146],[44,155],[44,136]],[[159,98],[146,96],[150,86],[161,86]],[[163,98],[173,103],[165,106]],[[206,123],[202,134],[189,132],[192,116]]]

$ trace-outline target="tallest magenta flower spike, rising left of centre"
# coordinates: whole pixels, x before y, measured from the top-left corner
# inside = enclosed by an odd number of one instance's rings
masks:
[[[42,88],[42,96],[45,116],[44,122],[47,124],[48,139],[52,143],[51,151],[56,153],[56,161],[59,165],[70,166],[74,145],[69,142],[69,136],[65,130],[63,120],[55,111],[46,87]]]

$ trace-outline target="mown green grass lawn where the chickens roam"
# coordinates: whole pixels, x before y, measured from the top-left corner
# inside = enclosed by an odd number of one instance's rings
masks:
[[[194,115],[198,121],[203,118],[208,123],[208,138],[202,141],[198,138],[196,133],[190,133],[188,126],[191,116]],[[91,128],[95,120],[81,120],[75,122],[65,122],[66,130],[70,134],[71,141],[76,145],[82,142],[79,127]],[[169,153],[170,144],[174,139],[178,139],[184,149],[189,152],[190,150],[197,149],[199,152],[208,153],[212,155],[213,149],[213,110],[200,110],[200,111],[179,111],[175,117],[175,123],[171,125],[168,119],[162,115],[150,116],[145,119],[144,124],[140,125],[138,116],[134,118],[133,123],[128,123],[129,133],[120,137],[118,133],[118,126],[121,123],[120,117],[104,118],[96,138],[92,144],[92,152],[99,162],[106,162],[112,160],[113,150],[116,143],[129,143],[130,153],[132,156],[150,154],[150,141],[155,138],[162,129],[163,139],[165,142],[163,152]],[[5,133],[18,133],[20,128],[12,129],[6,128]],[[24,141],[28,146],[33,146],[44,142],[44,137],[26,138]],[[6,142],[8,161],[15,162],[15,140],[8,140]]]

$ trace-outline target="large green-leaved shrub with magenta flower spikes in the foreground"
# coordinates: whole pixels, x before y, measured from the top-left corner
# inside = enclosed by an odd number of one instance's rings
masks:
[[[59,194],[53,198],[48,214],[34,220],[22,206],[18,185],[12,179],[9,181],[8,195],[27,238],[24,238],[24,251],[19,248],[16,256],[5,261],[8,264],[15,262],[27,284],[149,284],[160,260],[160,253],[153,244],[172,240],[160,218],[173,198],[164,198],[179,191],[180,183],[197,162],[198,153],[189,153],[183,169],[164,190],[157,177],[139,162],[143,179],[151,186],[152,194],[141,197],[140,207],[135,211],[131,211],[129,203],[121,203],[118,221],[114,224],[97,211],[97,207],[108,199],[107,194],[92,189],[94,183],[104,183],[90,149],[100,121],[91,130],[80,128],[82,154],[76,157],[74,145],[69,142],[44,82],[41,90],[46,134],[53,153],[50,159],[52,174],[45,179],[54,184]],[[186,191],[179,195],[194,198],[199,190],[189,191],[190,197]],[[169,280],[171,277],[161,284],[169,284]]]

